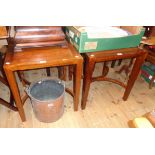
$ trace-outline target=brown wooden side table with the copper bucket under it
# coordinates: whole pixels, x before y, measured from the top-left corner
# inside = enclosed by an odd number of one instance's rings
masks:
[[[74,110],[78,110],[80,83],[82,75],[82,56],[69,44],[68,48],[46,47],[22,49],[21,52],[8,52],[4,62],[4,71],[12,90],[16,106],[22,121],[26,121],[23,100],[20,97],[15,71],[39,69],[54,66],[74,66],[73,91],[67,91],[73,96]]]

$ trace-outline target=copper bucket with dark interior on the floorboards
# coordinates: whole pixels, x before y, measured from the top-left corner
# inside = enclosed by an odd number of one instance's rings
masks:
[[[36,118],[41,122],[57,121],[64,113],[65,85],[56,79],[42,79],[26,88]]]

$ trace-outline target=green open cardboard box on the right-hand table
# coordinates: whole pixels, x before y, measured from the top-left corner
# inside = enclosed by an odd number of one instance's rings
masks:
[[[80,30],[81,26],[66,26],[65,34],[80,53],[137,47],[144,35],[142,26],[120,26],[129,33],[128,36],[114,38],[90,38],[88,33]]]

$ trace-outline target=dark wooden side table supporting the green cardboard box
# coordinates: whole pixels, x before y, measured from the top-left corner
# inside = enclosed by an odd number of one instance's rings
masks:
[[[147,56],[147,52],[139,48],[127,48],[127,49],[119,49],[119,50],[108,50],[108,51],[86,53],[83,89],[82,89],[82,102],[81,102],[82,109],[85,109],[86,107],[90,84],[91,82],[94,82],[94,81],[110,81],[124,87],[125,92],[124,92],[123,100],[126,101],[135,83],[135,80],[138,77],[140,67],[143,64],[146,56]],[[129,76],[127,85],[125,85],[124,83],[118,80],[106,77],[108,73],[108,67],[106,66],[106,61],[128,59],[128,58],[136,58],[136,61],[134,63],[131,74]],[[102,73],[102,76],[92,77],[94,67],[97,62],[105,62],[104,73]]]

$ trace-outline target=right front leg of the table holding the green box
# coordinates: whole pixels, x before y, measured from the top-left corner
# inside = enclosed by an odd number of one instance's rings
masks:
[[[144,60],[147,56],[147,53],[144,52],[144,51],[141,51],[141,55],[139,55],[137,58],[136,58],[136,61],[134,63],[134,66],[133,66],[133,69],[131,71],[131,74],[129,76],[129,80],[128,80],[128,83],[127,83],[127,87],[125,89],[125,92],[124,92],[124,95],[123,95],[123,100],[126,101],[130,92],[131,92],[131,89],[138,77],[138,74],[140,72],[140,68],[142,66],[142,64],[144,63]]]

